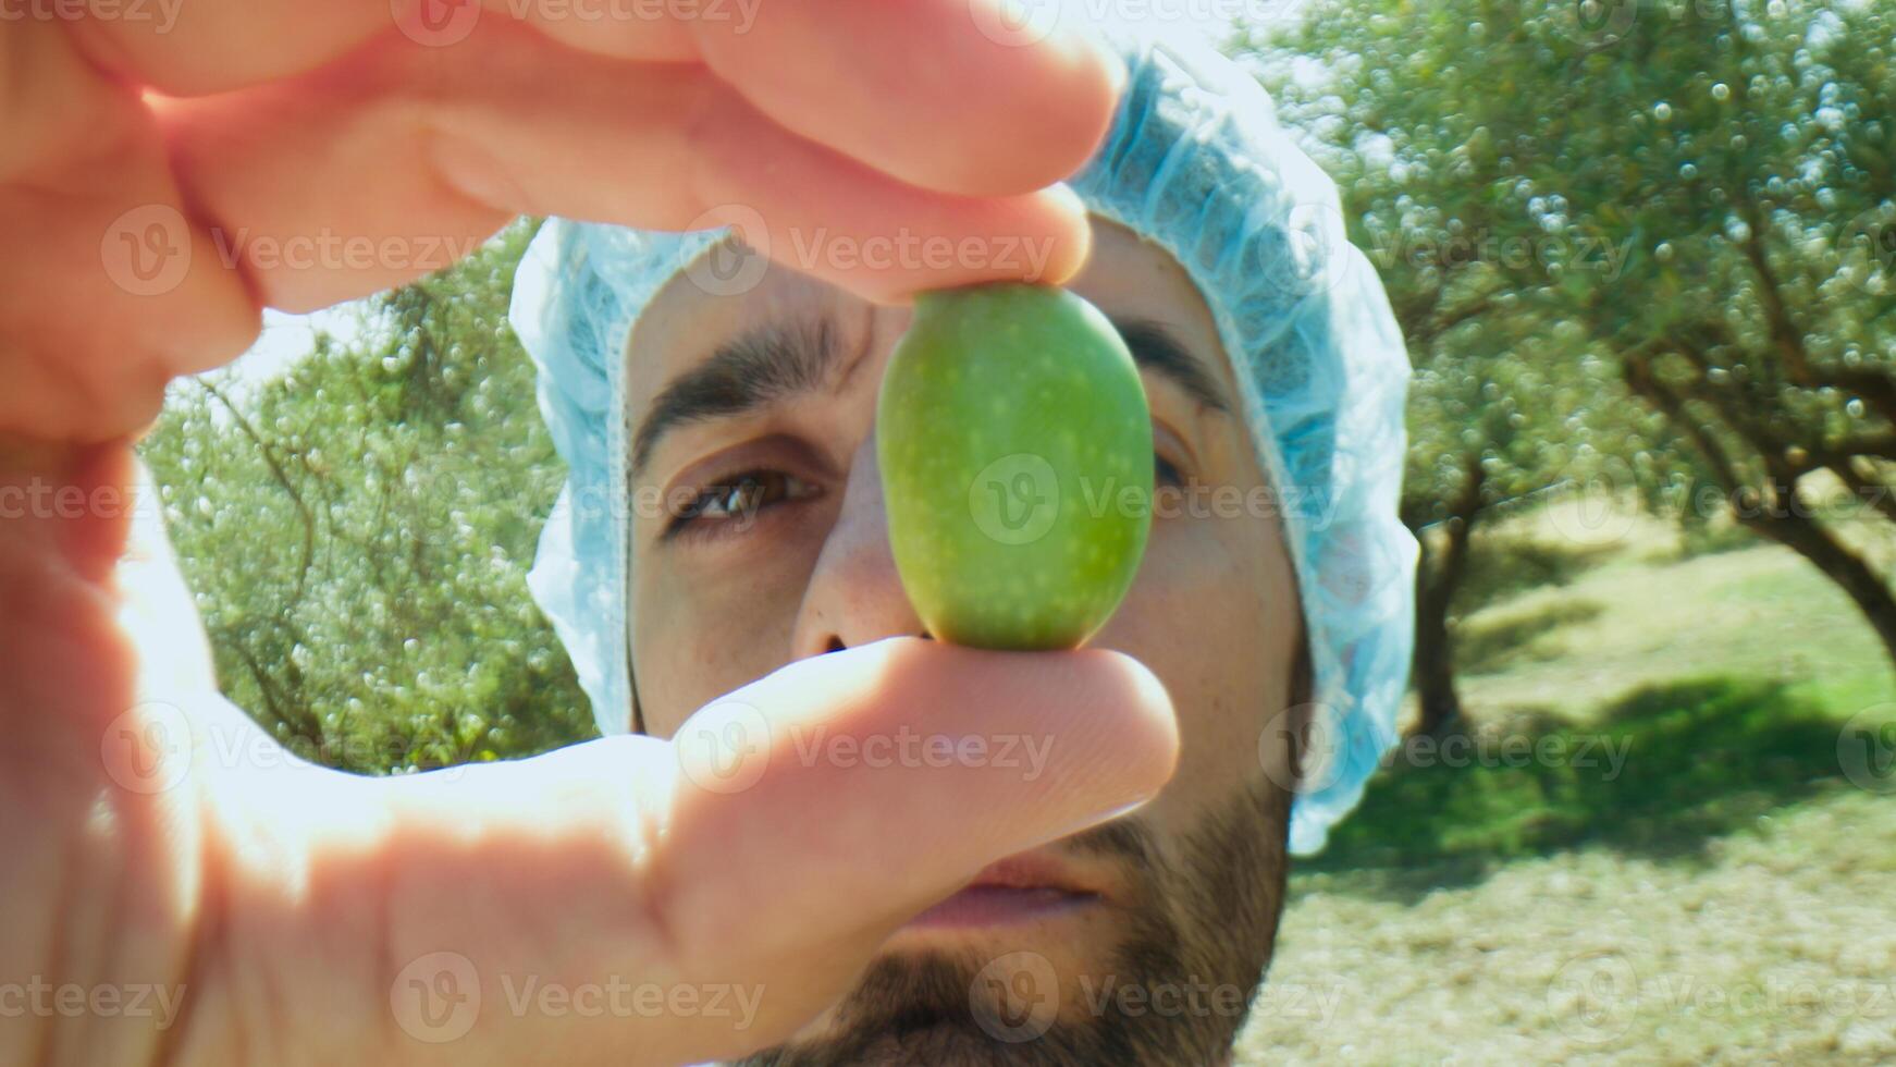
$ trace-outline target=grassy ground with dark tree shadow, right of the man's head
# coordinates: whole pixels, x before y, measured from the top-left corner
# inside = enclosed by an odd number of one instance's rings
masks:
[[[1780,548],[1583,548],[1464,620],[1464,756],[1293,872],[1238,1063],[1896,1061],[1896,769],[1839,762],[1881,644]]]

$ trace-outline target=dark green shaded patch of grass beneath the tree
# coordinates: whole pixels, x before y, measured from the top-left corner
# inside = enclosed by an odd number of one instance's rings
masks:
[[[1773,682],[1648,686],[1574,728],[1513,716],[1414,741],[1308,870],[1486,864],[1589,841],[1680,855],[1843,777],[1839,724]]]

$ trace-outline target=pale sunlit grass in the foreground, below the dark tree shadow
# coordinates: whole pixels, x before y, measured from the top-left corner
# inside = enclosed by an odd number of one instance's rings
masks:
[[[1240,1063],[1888,1063],[1888,805],[1826,790],[1689,860],[1422,864],[1411,898],[1299,876],[1270,982],[1331,1008],[1253,1018]]]

